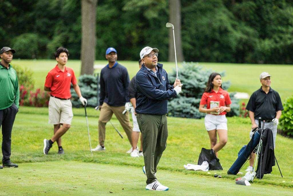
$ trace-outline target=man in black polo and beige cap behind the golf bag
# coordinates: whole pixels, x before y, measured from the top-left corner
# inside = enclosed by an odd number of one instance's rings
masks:
[[[268,72],[260,74],[259,79],[261,83],[260,89],[252,93],[246,109],[249,110],[249,118],[252,123],[252,129],[258,126],[258,118],[261,117],[262,121],[265,120],[265,128],[270,128],[273,132],[274,148],[277,135],[277,125],[279,124],[279,118],[284,110],[279,93],[272,88],[271,78]],[[250,131],[250,138],[253,132]],[[253,163],[255,154],[251,156],[249,160],[249,166],[246,171],[253,172]]]

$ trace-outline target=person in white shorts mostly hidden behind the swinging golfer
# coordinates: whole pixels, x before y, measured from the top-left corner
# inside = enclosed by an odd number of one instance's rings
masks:
[[[139,59],[138,61],[139,63],[139,69],[142,68],[142,60]],[[136,112],[135,112],[135,108],[136,108],[136,98],[137,98],[137,88],[135,87],[135,76],[131,79],[130,83],[129,83],[129,98],[130,98],[130,102],[132,104],[131,107],[131,115],[132,115],[132,122],[133,122],[133,129],[132,129],[132,134],[131,134],[131,140],[132,140],[132,152],[130,152],[130,156],[131,157],[143,157],[143,153],[142,153],[142,135],[140,134],[140,150],[138,150],[137,147],[137,142],[138,142],[138,138],[139,138],[139,127],[137,124],[137,119],[136,119]]]

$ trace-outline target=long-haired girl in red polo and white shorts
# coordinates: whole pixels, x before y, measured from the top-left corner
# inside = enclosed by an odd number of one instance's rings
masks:
[[[200,100],[199,111],[206,113],[205,128],[209,134],[211,149],[218,157],[218,151],[227,143],[227,118],[230,112],[231,99],[227,91],[222,89],[222,78],[219,73],[211,73],[207,87]],[[204,108],[207,105],[207,108]],[[212,106],[212,107],[211,107]],[[217,143],[217,133],[219,142]]]

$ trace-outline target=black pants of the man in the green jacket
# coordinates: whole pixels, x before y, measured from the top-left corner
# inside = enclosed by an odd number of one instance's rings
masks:
[[[18,108],[13,103],[9,108],[0,110],[0,128],[2,126],[2,163],[10,162],[11,155],[11,132],[15,115]]]

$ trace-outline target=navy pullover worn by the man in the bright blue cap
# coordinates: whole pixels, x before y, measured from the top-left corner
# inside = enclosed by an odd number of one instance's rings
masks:
[[[129,75],[127,69],[117,63],[101,70],[100,77],[100,105],[103,102],[110,106],[124,106],[129,102]]]

